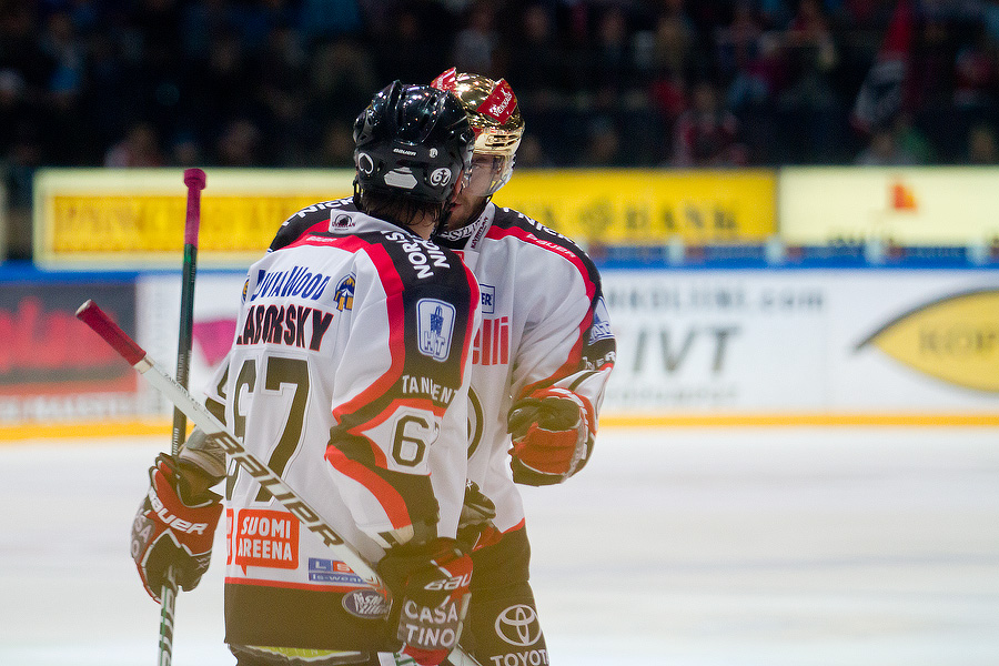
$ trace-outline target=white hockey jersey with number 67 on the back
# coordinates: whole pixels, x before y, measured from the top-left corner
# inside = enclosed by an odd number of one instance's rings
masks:
[[[451,251],[322,210],[321,231],[251,266],[208,405],[376,562],[414,525],[456,534],[478,286]],[[249,474],[230,468],[226,500],[226,640],[321,646],[303,632],[322,637],[323,593],[360,578]]]

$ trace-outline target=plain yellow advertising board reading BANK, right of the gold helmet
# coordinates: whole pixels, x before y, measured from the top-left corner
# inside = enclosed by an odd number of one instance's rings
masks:
[[[776,186],[766,170],[518,170],[494,201],[584,243],[760,243]]]

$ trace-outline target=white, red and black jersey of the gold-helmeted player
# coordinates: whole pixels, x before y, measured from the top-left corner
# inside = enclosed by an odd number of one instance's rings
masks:
[[[339,204],[350,208],[349,201]],[[271,248],[324,224],[319,211],[303,211],[285,222]],[[598,414],[616,343],[599,273],[569,239],[488,203],[474,223],[435,240],[463,258],[482,294],[468,394],[468,476],[496,504],[494,524],[502,534],[524,524],[509,470],[511,406],[535,389],[558,386]],[[491,536],[498,534],[485,535],[480,545]]]

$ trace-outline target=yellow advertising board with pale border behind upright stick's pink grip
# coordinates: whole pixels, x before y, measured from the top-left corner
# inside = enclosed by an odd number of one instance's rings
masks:
[[[281,223],[353,191],[351,170],[208,169],[199,263],[246,266]],[[43,170],[34,180],[34,256],[58,269],[179,266],[186,186],[182,169]]]

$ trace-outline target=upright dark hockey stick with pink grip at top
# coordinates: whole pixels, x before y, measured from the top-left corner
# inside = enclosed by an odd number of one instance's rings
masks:
[[[198,229],[201,225],[201,191],[204,190],[204,171],[184,170],[188,185],[188,213],[184,218],[184,263],[181,279],[180,330],[176,335],[176,383],[188,387],[191,371],[191,346],[194,330],[194,278],[198,273]],[[183,412],[173,408],[173,433],[170,453],[176,457],[181,444],[188,435],[188,418]],[[176,575],[168,567],[160,591],[160,655],[157,664],[170,666],[173,660],[173,617],[176,604]]]

